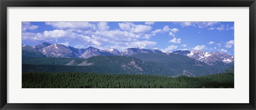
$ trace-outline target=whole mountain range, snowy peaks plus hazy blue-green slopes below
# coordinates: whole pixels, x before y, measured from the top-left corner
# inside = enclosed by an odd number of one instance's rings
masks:
[[[219,52],[176,50],[164,53],[158,49],[74,48],[43,43],[34,47],[22,44],[22,71],[58,71],[153,74],[169,77],[197,77],[226,71],[234,66],[234,56]],[[41,64],[33,65],[31,64]],[[62,66],[57,66],[62,65]],[[72,65],[72,66],[70,66]],[[33,70],[34,69],[34,70]]]

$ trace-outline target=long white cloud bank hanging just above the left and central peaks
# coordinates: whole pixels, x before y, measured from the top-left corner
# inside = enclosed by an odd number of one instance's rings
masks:
[[[54,24],[57,24],[57,23],[54,23]],[[130,26],[133,26],[133,24],[130,24]],[[140,25],[137,25],[137,26],[133,26],[133,27],[136,27],[136,29],[133,29],[134,31],[136,31],[137,29],[140,29]],[[42,40],[42,41],[48,41],[48,42],[53,42],[58,39],[65,39],[65,40],[71,39],[86,45],[100,46],[103,43],[110,43],[110,44],[115,44],[117,42],[130,43],[130,42],[138,41],[139,39],[149,39],[151,37],[151,33],[144,34],[144,33],[132,33],[132,32],[121,31],[121,30],[108,30],[109,26],[107,26],[106,22],[98,23],[98,28],[99,30],[87,30],[82,28],[81,29],[73,29],[73,28],[56,29],[56,30],[44,31],[42,33],[39,32],[34,34],[23,32],[22,39],[23,38],[28,39],[30,37],[32,41]]]

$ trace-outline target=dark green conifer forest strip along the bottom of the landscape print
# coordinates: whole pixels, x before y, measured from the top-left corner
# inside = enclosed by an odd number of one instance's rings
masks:
[[[161,77],[92,73],[22,73],[22,88],[234,88],[234,74]]]

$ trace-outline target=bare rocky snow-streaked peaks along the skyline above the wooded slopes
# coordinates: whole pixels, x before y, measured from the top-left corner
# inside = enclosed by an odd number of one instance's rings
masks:
[[[22,47],[26,46],[22,44]],[[157,53],[157,54],[181,54],[184,56],[188,56],[190,58],[194,58],[195,60],[205,62],[206,64],[213,65],[215,62],[223,62],[223,63],[233,63],[234,56],[220,53],[220,52],[203,52],[201,50],[189,50],[189,49],[179,49],[175,50],[171,53],[164,53],[159,49],[143,49],[139,47],[127,48],[123,52],[119,52],[116,48],[110,48],[106,50],[102,50],[99,48],[95,48],[89,46],[88,48],[78,49],[71,46],[65,46],[61,44],[50,44],[50,43],[42,43],[34,46],[33,48],[39,50],[42,54],[47,57],[81,57],[81,58],[89,58],[92,56],[104,55],[122,55],[122,56],[130,56],[139,53]]]

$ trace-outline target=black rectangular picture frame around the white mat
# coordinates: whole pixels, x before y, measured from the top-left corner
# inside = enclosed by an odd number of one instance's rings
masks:
[[[255,0],[0,0],[1,109],[256,109]],[[7,102],[7,7],[250,7],[250,100],[248,104],[10,104]]]

